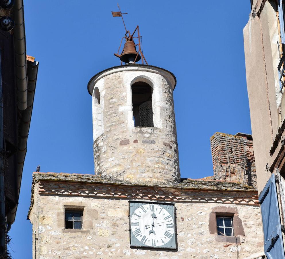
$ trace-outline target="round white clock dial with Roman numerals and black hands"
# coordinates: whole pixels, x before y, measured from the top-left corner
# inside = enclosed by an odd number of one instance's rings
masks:
[[[159,247],[174,234],[174,222],[167,210],[158,204],[138,207],[131,216],[131,231],[144,245]]]

